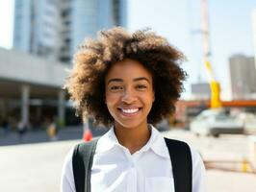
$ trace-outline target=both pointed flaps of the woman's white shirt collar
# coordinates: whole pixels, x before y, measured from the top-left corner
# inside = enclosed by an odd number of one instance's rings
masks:
[[[140,152],[152,150],[158,156],[169,157],[166,142],[162,134],[152,125],[149,125],[149,128],[151,129],[151,136],[147,143],[141,148]],[[123,148],[115,136],[114,127],[112,127],[109,132],[106,132],[98,140],[96,153],[107,152],[115,146]]]

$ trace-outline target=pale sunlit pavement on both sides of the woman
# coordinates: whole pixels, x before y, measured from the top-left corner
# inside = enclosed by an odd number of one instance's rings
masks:
[[[49,141],[45,132],[31,132],[30,138],[23,138],[22,144],[18,144],[16,138],[8,145],[6,139],[15,137],[14,133],[11,134],[0,138],[0,191],[60,191],[64,156],[76,143],[81,142],[82,128],[64,129],[59,132],[61,140],[54,142]],[[163,132],[163,135],[187,141],[199,151],[204,160],[240,161],[248,153],[247,138],[244,135],[197,138],[190,132],[181,131]],[[40,143],[34,142],[36,138],[40,138]],[[208,192],[255,191],[256,175],[243,173],[242,165],[233,168],[236,171],[208,169]]]

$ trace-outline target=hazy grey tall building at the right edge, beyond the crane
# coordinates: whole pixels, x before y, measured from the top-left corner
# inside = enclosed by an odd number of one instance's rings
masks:
[[[234,55],[229,59],[233,99],[255,99],[256,69],[253,57]]]

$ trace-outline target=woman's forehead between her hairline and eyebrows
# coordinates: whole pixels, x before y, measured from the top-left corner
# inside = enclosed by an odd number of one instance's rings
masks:
[[[146,77],[152,81],[151,73],[141,64],[141,62],[137,60],[125,59],[113,64],[106,75],[106,80],[112,78],[128,80],[139,77]]]

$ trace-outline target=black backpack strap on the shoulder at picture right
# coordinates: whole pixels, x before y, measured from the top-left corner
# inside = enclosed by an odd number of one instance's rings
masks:
[[[165,138],[168,148],[175,192],[192,192],[192,154],[190,146],[183,142]]]

